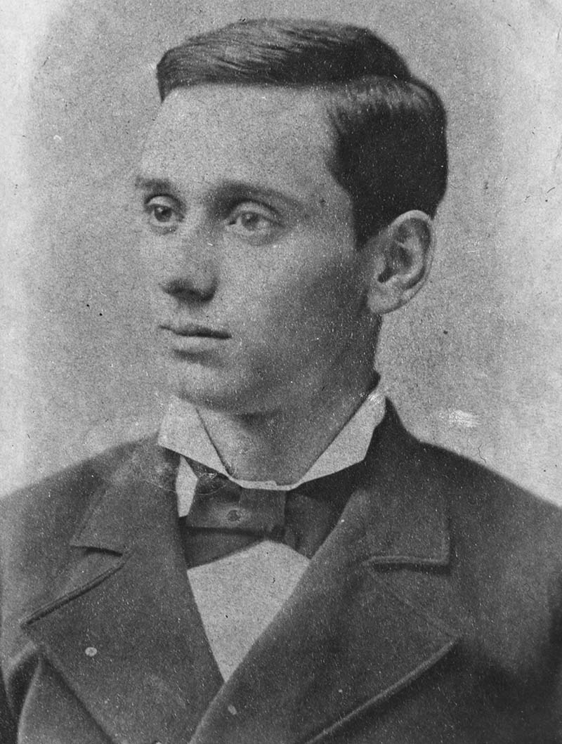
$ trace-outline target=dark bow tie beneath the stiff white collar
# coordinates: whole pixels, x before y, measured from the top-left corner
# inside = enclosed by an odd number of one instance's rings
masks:
[[[188,568],[258,542],[284,542],[311,557],[336,524],[349,495],[352,468],[290,491],[243,488],[188,461],[197,475],[194,500],[180,520]]]

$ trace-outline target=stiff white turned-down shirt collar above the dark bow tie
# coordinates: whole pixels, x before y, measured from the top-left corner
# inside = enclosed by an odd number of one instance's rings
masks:
[[[179,516],[185,516],[188,513],[197,484],[197,476],[185,458],[202,463],[226,475],[243,488],[289,491],[307,481],[323,478],[325,475],[331,475],[362,462],[367,454],[373,432],[383,420],[384,414],[385,397],[379,382],[302,478],[292,484],[280,485],[275,481],[243,481],[233,478],[220,460],[197,410],[190,403],[173,398],[162,421],[158,443],[172,452],[183,455],[176,478]]]

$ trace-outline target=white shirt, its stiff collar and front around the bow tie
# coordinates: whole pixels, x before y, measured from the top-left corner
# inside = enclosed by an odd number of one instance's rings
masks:
[[[242,481],[232,478],[226,472],[197,410],[189,403],[174,399],[162,422],[159,444],[182,456],[176,476],[179,517],[188,514],[197,486],[197,476],[185,458],[226,475],[243,488],[294,491],[308,481],[326,478],[362,462],[374,429],[383,420],[385,409],[385,397],[379,384],[368,394],[360,408],[303,477],[293,484],[280,485],[274,481]],[[337,480],[340,480],[339,476]],[[332,525],[339,519],[348,497],[345,487],[340,485],[336,490],[341,493],[333,498],[331,504],[334,517]],[[289,512],[293,507],[294,504],[287,501]],[[329,508],[328,502],[325,503],[325,508]],[[320,514],[318,525],[308,525],[310,516],[306,514],[304,522],[303,519],[300,521],[307,528],[311,527],[312,531],[320,528],[321,542],[326,525],[322,527],[320,522],[325,523],[327,516],[328,512]],[[281,542],[264,539],[249,548],[188,568],[188,581],[208,643],[225,681],[243,661],[301,580],[310,562],[310,558],[302,553],[303,551],[297,552]],[[308,556],[310,554],[312,551]]]

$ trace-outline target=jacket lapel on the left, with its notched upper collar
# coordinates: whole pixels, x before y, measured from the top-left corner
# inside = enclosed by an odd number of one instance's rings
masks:
[[[24,629],[115,741],[185,743],[217,692],[185,574],[174,458],[150,440],[100,490],[54,600]]]

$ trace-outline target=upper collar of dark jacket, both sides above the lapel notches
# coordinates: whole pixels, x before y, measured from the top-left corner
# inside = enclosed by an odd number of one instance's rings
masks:
[[[363,463],[355,466],[353,498],[334,530],[338,549],[380,564],[447,565],[450,536],[442,484],[427,477],[424,445],[412,437],[392,403],[374,432]],[[140,443],[130,458],[106,478],[71,544],[124,553],[167,533],[175,525],[174,484],[179,455]],[[163,519],[164,505],[166,517]],[[346,526],[344,526],[346,525]]]

